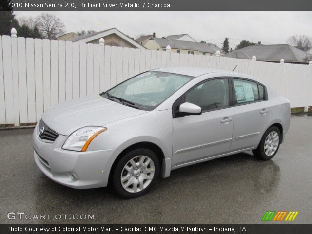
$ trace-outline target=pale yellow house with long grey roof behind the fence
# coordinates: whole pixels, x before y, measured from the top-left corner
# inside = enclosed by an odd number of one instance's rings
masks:
[[[224,54],[222,49],[215,44],[197,42],[188,34],[169,35],[165,38],[157,38],[154,33],[153,35],[141,36],[136,41],[150,50],[165,51],[166,47],[169,45],[171,47],[171,52],[174,53],[215,55],[216,51],[220,51],[221,55]]]

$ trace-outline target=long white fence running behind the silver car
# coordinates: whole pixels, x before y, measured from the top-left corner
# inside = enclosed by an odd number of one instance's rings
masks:
[[[292,107],[312,106],[312,66],[0,36],[0,124],[37,122],[50,106],[98,94],[169,66],[232,70],[261,78]]]

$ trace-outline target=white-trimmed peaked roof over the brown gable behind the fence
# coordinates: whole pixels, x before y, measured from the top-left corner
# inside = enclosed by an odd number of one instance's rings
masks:
[[[140,45],[139,43],[137,43],[137,41],[135,41],[134,39],[128,37],[127,35],[125,35],[124,33],[122,33],[121,31],[119,31],[117,28],[110,28],[110,29],[106,29],[100,32],[95,32],[95,33],[91,33],[91,34],[87,34],[87,35],[82,35],[79,37],[75,37],[73,39],[71,39],[70,41],[72,42],[89,42],[89,41],[93,41],[111,34],[116,34],[119,37],[121,37],[122,39],[126,40],[127,42],[129,42],[130,44],[134,45],[135,47],[139,48],[139,49],[145,49],[144,46]]]

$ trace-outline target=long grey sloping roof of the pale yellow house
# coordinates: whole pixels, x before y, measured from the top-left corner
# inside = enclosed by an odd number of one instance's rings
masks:
[[[199,52],[204,53],[215,53],[217,50],[222,52],[222,49],[215,44],[212,43],[200,43],[193,41],[185,41],[185,40],[173,40],[166,38],[153,38],[160,47],[166,48],[169,45],[174,49],[186,49],[186,50],[198,50]]]

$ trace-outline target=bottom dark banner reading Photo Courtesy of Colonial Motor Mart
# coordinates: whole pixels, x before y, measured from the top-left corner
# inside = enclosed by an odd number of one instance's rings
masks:
[[[312,224],[0,224],[0,234],[311,234]]]

